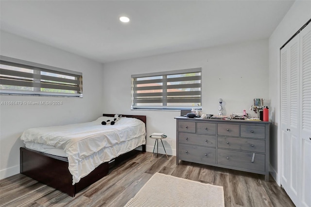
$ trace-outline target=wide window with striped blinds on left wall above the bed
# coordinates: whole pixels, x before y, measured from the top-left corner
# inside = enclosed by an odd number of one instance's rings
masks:
[[[82,97],[82,73],[0,56],[0,94]]]

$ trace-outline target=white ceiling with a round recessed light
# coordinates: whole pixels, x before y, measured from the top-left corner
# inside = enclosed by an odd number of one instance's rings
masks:
[[[106,63],[268,38],[293,3],[1,0],[0,29]]]

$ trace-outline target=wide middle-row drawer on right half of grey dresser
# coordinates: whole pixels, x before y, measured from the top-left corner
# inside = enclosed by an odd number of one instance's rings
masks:
[[[264,140],[218,136],[217,143],[219,148],[265,153]]]

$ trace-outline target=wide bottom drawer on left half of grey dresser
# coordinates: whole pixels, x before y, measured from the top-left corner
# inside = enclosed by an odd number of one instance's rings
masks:
[[[193,162],[216,163],[215,148],[179,144],[178,156]]]

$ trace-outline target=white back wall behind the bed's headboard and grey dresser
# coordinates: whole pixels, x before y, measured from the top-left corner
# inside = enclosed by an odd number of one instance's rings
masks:
[[[265,105],[270,103],[266,39],[104,64],[104,112],[146,115],[147,137],[164,132],[173,141],[165,149],[176,155],[173,118],[180,111],[131,110],[131,75],[189,68],[202,68],[203,113],[218,114],[220,98],[225,115],[242,113],[243,109],[252,113],[249,108],[254,98],[266,99]],[[147,151],[152,152],[153,146],[154,140],[148,138]]]

